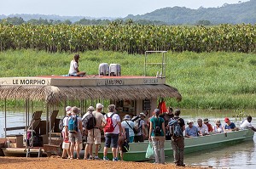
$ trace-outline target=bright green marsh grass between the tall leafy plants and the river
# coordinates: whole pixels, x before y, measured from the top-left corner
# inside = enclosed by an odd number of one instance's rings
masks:
[[[80,54],[79,69],[88,75],[98,72],[98,65],[119,63],[122,75],[143,75],[144,56],[109,51],[88,51]],[[236,109],[256,108],[256,54],[201,53],[167,54],[166,82],[177,87],[183,100],[167,100],[181,108]],[[73,54],[46,53],[34,50],[0,53],[0,76],[66,75]],[[160,61],[152,54],[149,61]],[[155,76],[160,67],[149,67]]]

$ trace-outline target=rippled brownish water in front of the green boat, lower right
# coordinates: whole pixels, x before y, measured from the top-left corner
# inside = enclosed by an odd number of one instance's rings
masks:
[[[193,154],[187,154],[184,157],[186,164],[191,166],[219,166],[231,168],[252,166],[255,168],[256,159],[253,158],[255,155],[255,143],[252,140],[241,144],[207,149]]]

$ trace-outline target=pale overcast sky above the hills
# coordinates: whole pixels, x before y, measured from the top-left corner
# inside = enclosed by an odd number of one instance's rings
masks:
[[[221,7],[248,0],[1,0],[0,14],[57,14],[62,16],[125,17],[158,8]]]

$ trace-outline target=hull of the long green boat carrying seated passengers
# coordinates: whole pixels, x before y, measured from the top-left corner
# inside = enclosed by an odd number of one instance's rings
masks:
[[[204,149],[212,149],[225,145],[238,144],[243,141],[253,140],[253,130],[240,130],[235,132],[227,132],[212,134],[197,138],[185,138],[184,153],[193,153]],[[104,143],[101,144],[99,156],[102,157]],[[148,148],[148,141],[144,143],[131,143],[130,151],[125,153],[124,161],[146,161],[145,158],[146,149]],[[172,157],[172,145],[171,141],[166,140],[165,143],[165,155]],[[80,157],[84,157],[84,151],[81,151]],[[112,159],[111,149],[108,149],[108,158]]]

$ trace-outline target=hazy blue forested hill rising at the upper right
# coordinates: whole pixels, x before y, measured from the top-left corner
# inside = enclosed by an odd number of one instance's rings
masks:
[[[196,24],[200,20],[208,20],[212,24],[239,24],[256,23],[256,0],[245,3],[224,4],[219,8],[160,8],[154,12],[132,15],[129,14],[125,19],[131,20],[159,20],[168,25]]]

